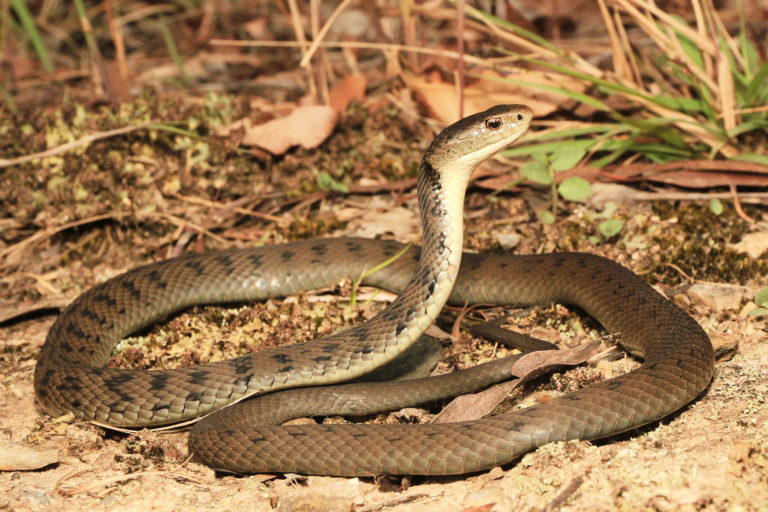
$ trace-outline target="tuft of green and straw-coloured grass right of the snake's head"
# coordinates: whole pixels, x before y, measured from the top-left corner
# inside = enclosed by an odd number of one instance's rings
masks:
[[[694,26],[665,13],[652,0],[605,0],[605,4],[604,22],[614,35],[609,70],[506,20],[467,8],[469,16],[492,27],[502,40],[517,41],[529,51],[521,54],[499,47],[500,53],[548,76],[581,82],[585,89],[554,86],[550,80],[475,76],[561,95],[600,112],[604,119],[585,121],[576,128],[569,122],[562,130],[535,134],[527,139],[528,146],[509,150],[506,156],[532,154],[541,146],[551,146],[548,140],[576,137],[571,142],[591,144],[590,165],[595,167],[635,154],[655,163],[720,158],[768,164],[763,150],[768,62],[750,39],[743,19],[738,34],[732,36],[711,2],[692,0],[700,13]],[[625,32],[627,19],[649,44],[632,43]],[[614,105],[637,108],[619,110]]]

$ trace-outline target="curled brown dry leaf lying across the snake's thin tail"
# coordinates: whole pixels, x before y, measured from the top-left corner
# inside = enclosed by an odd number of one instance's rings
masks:
[[[432,423],[455,423],[482,418],[520,384],[557,367],[581,364],[594,356],[599,348],[600,342],[593,341],[567,350],[542,350],[526,354],[511,370],[511,373],[520,375],[519,379],[502,382],[480,393],[463,395],[454,399],[440,411],[440,414],[435,416]]]

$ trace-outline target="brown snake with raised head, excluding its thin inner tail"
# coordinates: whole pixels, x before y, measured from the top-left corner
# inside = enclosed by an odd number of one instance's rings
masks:
[[[678,411],[712,379],[712,343],[642,278],[588,253],[463,254],[463,202],[473,170],[523,135],[532,118],[527,106],[498,105],[434,138],[417,179],[422,247],[398,258],[403,246],[389,240],[303,240],[185,254],[94,286],[49,330],[35,367],[38,403],[50,414],[71,412],[113,428],[204,417],[192,427],[188,447],[215,469],[341,476],[472,473],[545,443],[604,438]],[[184,368],[105,367],[122,338],[190,306],[292,295],[360,276],[362,284],[398,295],[346,330]],[[249,397],[300,394],[407,357],[446,303],[553,302],[575,305],[620,333],[620,345],[643,364],[546,402],[457,423],[254,426],[244,417]],[[233,417],[240,420],[232,423]]]

